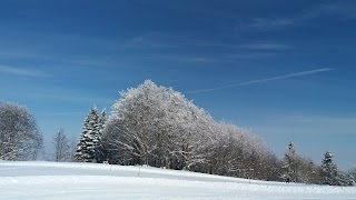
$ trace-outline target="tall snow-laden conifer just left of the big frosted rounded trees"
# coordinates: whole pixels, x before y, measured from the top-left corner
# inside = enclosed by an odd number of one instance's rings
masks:
[[[93,107],[85,120],[82,133],[78,139],[75,154],[76,161],[100,162],[102,124],[100,124],[99,121],[98,110]]]

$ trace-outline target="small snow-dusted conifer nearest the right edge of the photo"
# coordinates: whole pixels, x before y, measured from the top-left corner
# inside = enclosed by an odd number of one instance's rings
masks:
[[[333,154],[330,152],[326,152],[324,154],[324,159],[322,161],[322,183],[329,186],[338,186],[338,171],[337,166],[334,163]]]

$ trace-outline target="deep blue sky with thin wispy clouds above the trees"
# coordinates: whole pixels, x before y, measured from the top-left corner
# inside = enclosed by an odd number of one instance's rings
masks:
[[[81,132],[89,109],[145,79],[217,121],[356,166],[355,1],[0,2],[0,100],[47,138]],[[49,141],[48,141],[49,142]]]

